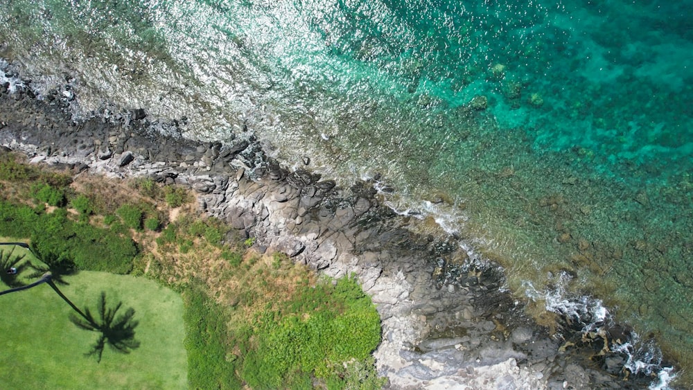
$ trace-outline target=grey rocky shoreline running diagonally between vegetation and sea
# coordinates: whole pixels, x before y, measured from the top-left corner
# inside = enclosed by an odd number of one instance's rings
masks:
[[[383,206],[373,182],[340,188],[310,172],[308,157],[289,170],[252,129],[202,143],[139,109],[73,121],[69,87],[38,97],[10,89],[0,86],[4,148],[75,175],[189,186],[202,211],[256,238],[259,251],[283,251],[330,276],[356,274],[383,321],[375,356],[392,389],[632,389],[653,380],[624,381],[615,353],[589,360],[606,341],[586,340],[570,321],[559,319],[563,336],[550,335],[502,289],[502,269],[444,231],[413,233],[422,222]]]

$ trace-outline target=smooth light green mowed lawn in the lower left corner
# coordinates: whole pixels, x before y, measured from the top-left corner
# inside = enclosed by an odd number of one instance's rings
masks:
[[[4,272],[4,270],[0,270]],[[73,310],[47,284],[0,296],[0,388],[184,389],[183,301],[155,281],[104,272],[67,276],[60,290],[79,308],[106,292],[107,307],[132,307],[139,348],[123,354],[105,346],[100,363],[87,357],[98,333],[69,321]],[[6,286],[0,283],[0,290]],[[117,316],[116,316],[117,317]]]

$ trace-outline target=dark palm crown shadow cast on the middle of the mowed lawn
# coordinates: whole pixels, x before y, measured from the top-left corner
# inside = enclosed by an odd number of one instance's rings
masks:
[[[70,321],[78,328],[99,333],[99,337],[91,346],[91,350],[85,353],[87,356],[95,356],[96,362],[101,362],[105,346],[109,346],[118,353],[130,353],[139,347],[139,342],[134,339],[134,328],[137,328],[139,321],[133,319],[133,308],[128,308],[125,313],[118,315],[122,305],[123,302],[119,302],[113,307],[108,307],[106,293],[101,292],[96,304],[98,317],[94,317],[89,308],[80,312],[80,317],[70,313]]]

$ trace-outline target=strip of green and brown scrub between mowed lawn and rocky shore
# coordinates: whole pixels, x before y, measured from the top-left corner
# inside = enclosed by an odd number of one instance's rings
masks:
[[[193,389],[382,387],[371,357],[380,319],[355,278],[318,278],[283,254],[256,253],[254,238],[198,215],[182,188],[104,181],[73,182],[0,154],[0,236],[28,240],[51,271],[77,271],[70,283],[104,271],[146,276],[179,292],[187,354],[181,366]],[[126,304],[136,307],[143,296],[153,295],[130,294]],[[137,313],[146,328],[152,313]],[[160,326],[165,331],[168,323]],[[142,348],[132,356],[146,345],[140,328]]]

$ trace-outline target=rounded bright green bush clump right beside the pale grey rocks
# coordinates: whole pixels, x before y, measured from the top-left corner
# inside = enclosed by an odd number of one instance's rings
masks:
[[[360,375],[377,388],[372,364],[365,364],[380,342],[380,317],[371,299],[355,278],[342,278],[336,285],[320,283],[304,287],[277,312],[258,319],[257,347],[244,357],[241,376],[254,389],[308,383],[319,378],[333,388],[342,388],[344,363],[360,362]],[[367,386],[367,382],[362,382]],[[293,386],[291,386],[293,387]]]

